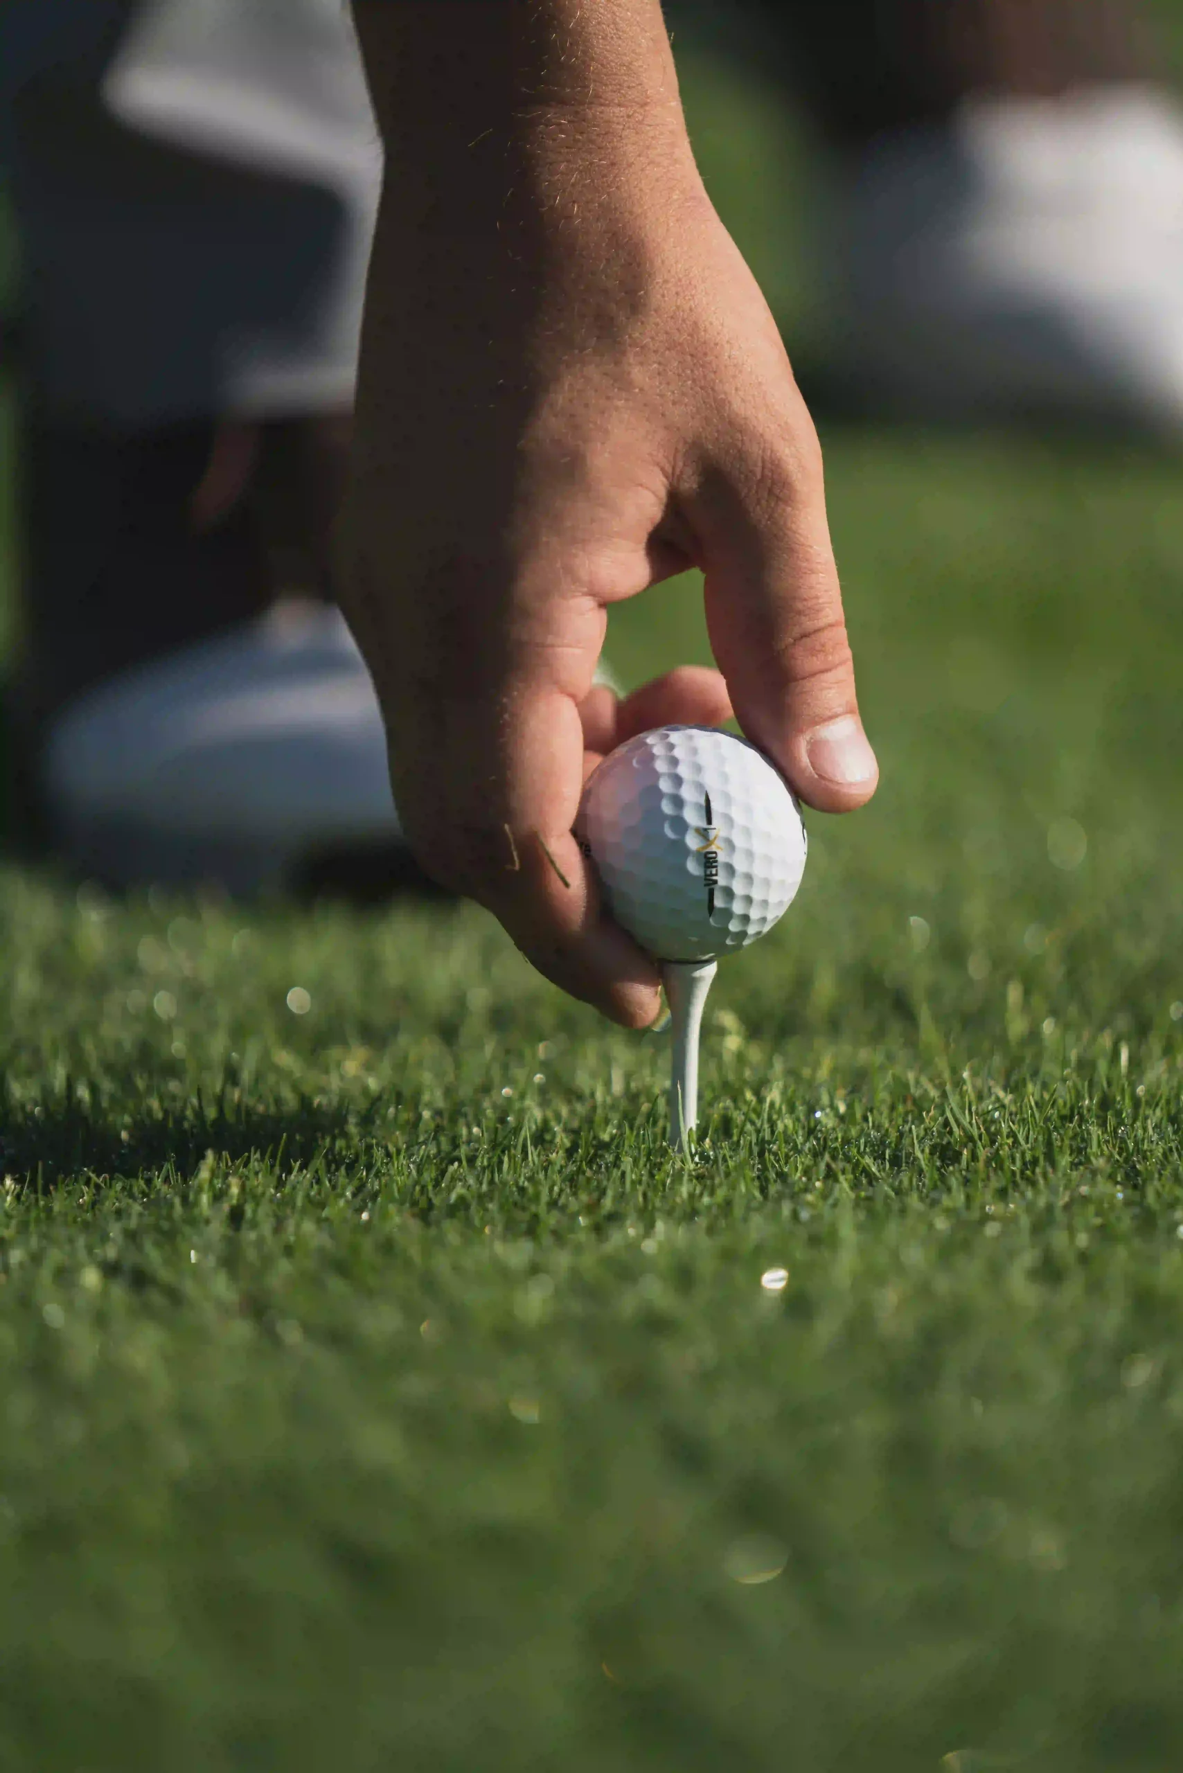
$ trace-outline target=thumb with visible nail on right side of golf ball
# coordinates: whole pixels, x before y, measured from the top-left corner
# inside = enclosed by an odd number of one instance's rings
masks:
[[[809,420],[805,418],[809,426]],[[862,730],[830,544],[821,450],[734,470],[701,502],[695,530],[711,647],[740,725],[809,807],[851,812],[878,784]]]

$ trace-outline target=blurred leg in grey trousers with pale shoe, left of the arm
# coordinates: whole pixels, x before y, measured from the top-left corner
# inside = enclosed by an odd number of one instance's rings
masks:
[[[381,179],[348,12],[12,0],[0,82],[50,842],[117,883],[397,869],[328,558]]]

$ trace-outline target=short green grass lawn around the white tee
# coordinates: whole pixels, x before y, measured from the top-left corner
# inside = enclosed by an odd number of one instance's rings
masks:
[[[475,910],[0,878],[5,1773],[1183,1764],[1183,477],[825,443],[883,789],[692,1161]]]

